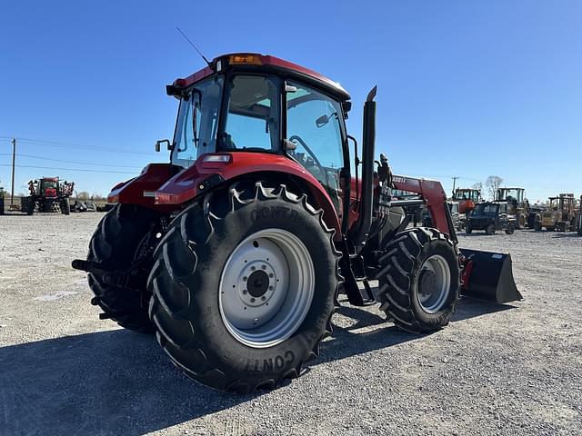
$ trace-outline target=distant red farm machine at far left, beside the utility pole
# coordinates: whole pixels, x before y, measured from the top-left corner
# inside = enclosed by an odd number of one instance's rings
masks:
[[[29,194],[21,200],[22,212],[32,215],[35,212],[71,213],[69,197],[75,183],[59,183],[58,177],[43,177],[28,182]]]

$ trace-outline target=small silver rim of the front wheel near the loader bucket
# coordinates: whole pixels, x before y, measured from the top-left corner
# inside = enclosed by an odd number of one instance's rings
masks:
[[[451,285],[451,272],[445,258],[432,255],[420,267],[416,281],[416,295],[422,309],[427,313],[440,311],[447,303]]]

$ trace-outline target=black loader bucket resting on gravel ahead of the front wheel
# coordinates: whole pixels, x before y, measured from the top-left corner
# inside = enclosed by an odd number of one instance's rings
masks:
[[[489,302],[523,300],[513,278],[511,255],[461,249],[465,256],[461,293],[467,297]]]

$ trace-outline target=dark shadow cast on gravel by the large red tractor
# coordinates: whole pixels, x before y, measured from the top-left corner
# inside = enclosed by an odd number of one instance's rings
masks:
[[[463,299],[453,321],[511,306]],[[355,307],[356,320],[334,327],[310,366],[422,339],[383,316]],[[356,332],[384,324],[372,332]],[[156,340],[126,330],[94,332],[0,348],[1,434],[144,434],[165,429],[260,395],[210,390],[166,359]]]

